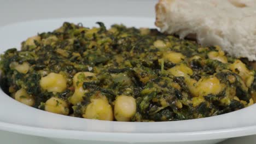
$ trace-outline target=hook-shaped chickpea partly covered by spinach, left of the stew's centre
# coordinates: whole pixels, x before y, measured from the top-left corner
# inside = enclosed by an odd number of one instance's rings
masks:
[[[91,72],[79,72],[74,75],[73,77],[73,86],[74,87],[80,87],[83,85],[83,82],[89,81],[88,77],[94,77],[95,79],[95,74]]]

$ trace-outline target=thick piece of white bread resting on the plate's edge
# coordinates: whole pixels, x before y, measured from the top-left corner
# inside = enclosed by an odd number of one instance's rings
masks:
[[[256,60],[256,0],[160,0],[155,9],[161,32]]]

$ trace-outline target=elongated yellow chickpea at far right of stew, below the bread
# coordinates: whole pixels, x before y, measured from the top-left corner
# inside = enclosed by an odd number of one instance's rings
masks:
[[[247,69],[246,65],[240,60],[236,60],[230,65],[230,69],[242,77],[247,87],[250,87],[254,80],[254,71]]]

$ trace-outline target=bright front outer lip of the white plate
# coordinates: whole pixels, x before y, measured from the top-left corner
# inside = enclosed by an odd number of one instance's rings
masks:
[[[13,133],[50,137],[57,139],[92,140],[109,142],[188,142],[228,139],[232,137],[249,136],[255,134],[256,125],[253,127],[231,128],[223,130],[196,131],[185,133],[108,133],[98,131],[62,130],[38,128],[25,125],[0,122],[0,130]],[[22,130],[22,131],[20,131]],[[232,134],[230,134],[232,132]],[[56,135],[57,134],[57,135]],[[53,136],[55,135],[55,136]],[[84,136],[84,137],[82,137]],[[195,136],[203,137],[197,139]],[[98,137],[105,139],[99,140]]]

